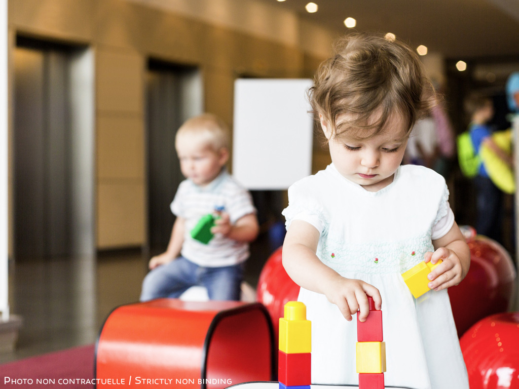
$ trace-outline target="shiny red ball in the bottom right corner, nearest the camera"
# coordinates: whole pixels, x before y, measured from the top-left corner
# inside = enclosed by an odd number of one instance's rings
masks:
[[[519,312],[474,324],[460,339],[470,389],[519,389]]]

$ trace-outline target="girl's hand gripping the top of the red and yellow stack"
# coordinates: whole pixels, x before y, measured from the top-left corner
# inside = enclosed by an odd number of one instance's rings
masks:
[[[366,321],[367,315],[370,313],[367,296],[373,298],[375,309],[379,310],[382,305],[382,298],[376,287],[361,280],[351,280],[342,276],[327,285],[324,295],[328,301],[337,305],[340,313],[348,322],[351,321],[351,316],[359,310],[359,320]]]

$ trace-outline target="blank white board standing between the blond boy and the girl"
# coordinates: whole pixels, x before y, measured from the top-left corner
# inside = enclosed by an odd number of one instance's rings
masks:
[[[233,176],[251,190],[287,189],[311,174],[310,79],[238,79]]]

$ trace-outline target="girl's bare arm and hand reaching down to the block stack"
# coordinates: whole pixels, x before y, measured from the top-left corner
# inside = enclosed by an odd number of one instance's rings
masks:
[[[373,297],[376,309],[382,299],[377,288],[361,280],[351,280],[324,265],[317,257],[319,231],[303,220],[294,220],[283,243],[283,266],[291,279],[305,289],[326,296],[336,304],[347,321],[360,309],[364,322],[370,313],[366,294]]]

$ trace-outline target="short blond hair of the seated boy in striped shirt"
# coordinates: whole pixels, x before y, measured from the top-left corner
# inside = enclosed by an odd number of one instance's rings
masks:
[[[187,119],[176,132],[175,143],[185,136],[196,137],[214,151],[229,149],[229,128],[222,119],[213,114],[206,113]]]

